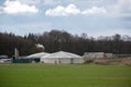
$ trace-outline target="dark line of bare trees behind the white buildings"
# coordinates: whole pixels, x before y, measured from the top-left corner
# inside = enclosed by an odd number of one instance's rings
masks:
[[[36,44],[44,45],[45,49],[38,49]],[[0,54],[14,54],[17,48],[20,55],[28,55],[35,52],[69,51],[83,55],[84,52],[111,52],[115,54],[131,53],[131,37],[121,36],[99,36],[88,37],[87,34],[72,35],[64,30],[53,29],[43,34],[28,34],[24,37],[14,34],[0,33]]]

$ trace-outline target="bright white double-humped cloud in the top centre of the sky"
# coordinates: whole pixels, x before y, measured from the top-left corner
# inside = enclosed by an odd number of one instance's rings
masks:
[[[76,15],[80,13],[80,10],[76,8],[75,4],[69,4],[68,7],[61,7],[58,5],[55,9],[49,9],[46,11],[46,15],[50,15],[50,16],[67,16],[67,15]]]

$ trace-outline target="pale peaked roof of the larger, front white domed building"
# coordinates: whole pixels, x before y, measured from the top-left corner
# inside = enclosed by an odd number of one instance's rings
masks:
[[[43,59],[46,58],[82,58],[81,55],[74,54],[74,53],[70,53],[70,52],[64,52],[64,51],[59,51],[59,52],[55,52],[48,55],[43,57]]]

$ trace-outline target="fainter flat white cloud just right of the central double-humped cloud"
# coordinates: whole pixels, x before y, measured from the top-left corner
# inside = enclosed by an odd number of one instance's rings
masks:
[[[105,8],[97,8],[97,7],[93,7],[82,12],[82,14],[85,15],[95,15],[95,14],[105,14],[105,13],[107,13]]]

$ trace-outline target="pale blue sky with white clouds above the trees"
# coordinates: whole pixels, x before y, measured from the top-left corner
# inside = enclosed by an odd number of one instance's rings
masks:
[[[131,0],[0,0],[0,32],[131,36]]]

